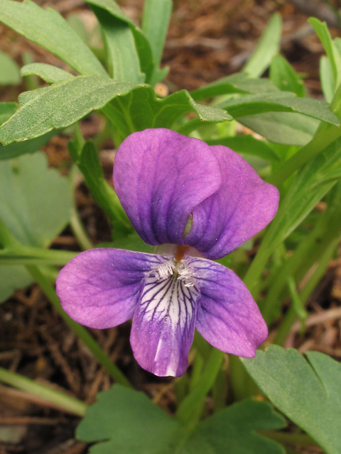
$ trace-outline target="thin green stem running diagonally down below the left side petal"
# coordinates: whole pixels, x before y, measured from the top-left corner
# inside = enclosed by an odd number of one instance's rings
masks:
[[[94,341],[94,338],[90,336],[90,333],[84,328],[84,326],[81,326],[77,322],[72,320],[70,316],[68,316],[65,311],[63,311],[58,295],[55,293],[55,289],[52,287],[43,273],[39,270],[39,268],[34,265],[26,265],[26,269],[31,274],[33,279],[37,282],[37,284],[39,284],[40,288],[43,290],[46,297],[48,297],[48,299],[51,301],[58,314],[64,319],[67,325],[70,326],[72,331],[77,334],[80,340],[84,342],[85,345],[87,345],[87,348],[89,348],[97,361],[104,367],[105,370],[107,370],[107,372],[109,372],[112,378],[119,384],[123,384],[126,387],[132,387],[126,377],[124,377],[117,366],[112,363],[112,360],[110,360],[106,353],[104,353],[97,342]]]

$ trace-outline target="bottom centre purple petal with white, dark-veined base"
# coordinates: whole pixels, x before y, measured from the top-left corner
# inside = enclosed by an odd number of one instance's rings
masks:
[[[151,273],[146,279],[130,336],[141,367],[160,377],[183,375],[188,367],[199,295],[197,287],[186,287],[173,275],[160,279]]]

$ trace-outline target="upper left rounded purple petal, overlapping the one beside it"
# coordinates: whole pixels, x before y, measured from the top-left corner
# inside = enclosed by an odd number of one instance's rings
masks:
[[[211,148],[202,140],[168,129],[129,135],[115,157],[117,195],[148,244],[184,244],[183,233],[193,209],[221,183]]]

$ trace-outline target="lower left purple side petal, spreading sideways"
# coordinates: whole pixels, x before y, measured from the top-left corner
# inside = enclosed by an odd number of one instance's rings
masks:
[[[134,315],[146,273],[166,260],[130,250],[87,250],[60,271],[58,297],[65,312],[82,325],[117,326]]]

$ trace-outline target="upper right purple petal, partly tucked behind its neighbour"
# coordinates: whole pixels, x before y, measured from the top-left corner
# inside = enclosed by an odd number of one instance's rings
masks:
[[[222,185],[193,211],[185,243],[217,259],[261,231],[274,218],[278,190],[265,183],[242,157],[227,147],[210,147],[222,170]]]

